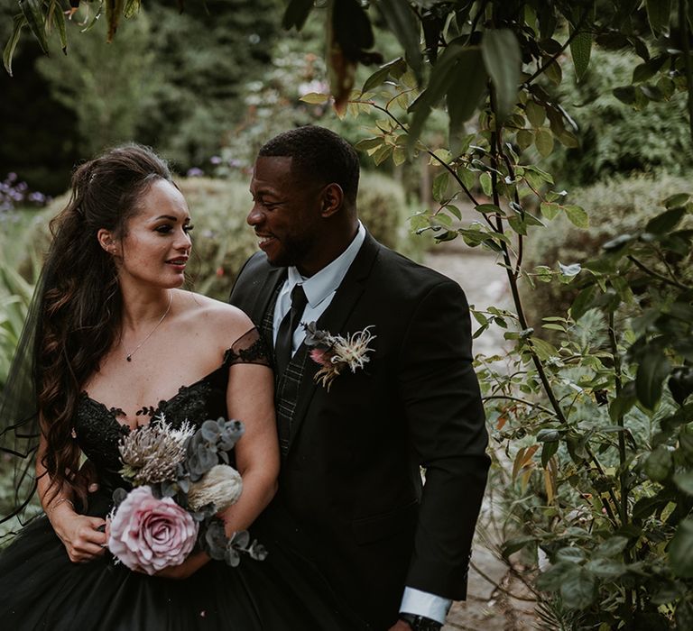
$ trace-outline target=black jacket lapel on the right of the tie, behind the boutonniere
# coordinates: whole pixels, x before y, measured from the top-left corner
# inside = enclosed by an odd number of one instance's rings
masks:
[[[317,325],[319,329],[329,331],[332,334],[342,333],[349,315],[352,314],[359,298],[364,293],[366,281],[371,273],[379,249],[380,244],[369,233],[366,233],[364,244],[361,246],[358,254],[356,254],[356,259],[351,264],[351,267],[347,270],[344,280],[337,288],[335,297],[332,298],[332,302],[325,310],[325,313],[318,318]],[[355,332],[349,331],[344,333]],[[301,348],[303,346],[304,344],[301,344]],[[318,388],[318,384],[313,379],[316,372],[318,372],[318,364],[310,360],[310,357],[306,358],[305,361],[305,370],[303,370],[303,379],[300,381],[296,410],[291,425],[289,453],[291,453],[291,447],[299,433],[300,425],[302,425],[305,417],[308,416],[310,401]]]

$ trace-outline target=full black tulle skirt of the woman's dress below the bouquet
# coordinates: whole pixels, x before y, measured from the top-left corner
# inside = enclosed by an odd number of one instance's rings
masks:
[[[98,514],[102,511],[89,511]],[[277,531],[279,533],[279,531]],[[0,628],[6,631],[355,631],[364,628],[315,565],[265,524],[269,554],[240,566],[208,562],[179,581],[131,572],[113,557],[73,563],[47,517],[0,553]],[[280,543],[282,542],[282,543]]]

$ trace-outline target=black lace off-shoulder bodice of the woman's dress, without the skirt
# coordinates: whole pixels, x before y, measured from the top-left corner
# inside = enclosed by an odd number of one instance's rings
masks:
[[[269,365],[263,340],[257,329],[241,336],[224,354],[224,361],[205,377],[188,386],[181,386],[173,397],[159,401],[156,406],[144,407],[137,414],[151,416],[157,422],[161,416],[173,427],[188,420],[201,425],[208,418],[226,417],[226,385],[228,370],[238,363]],[[102,487],[115,489],[123,485],[118,471],[121,468],[118,444],[130,428],[118,421],[124,416],[117,407],[108,408],[83,392],[75,415],[75,437],[82,452],[97,468]]]

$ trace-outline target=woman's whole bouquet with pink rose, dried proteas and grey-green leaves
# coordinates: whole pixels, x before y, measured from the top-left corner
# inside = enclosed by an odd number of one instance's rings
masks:
[[[226,536],[217,513],[235,504],[241,476],[229,452],[243,435],[240,421],[218,418],[196,431],[173,429],[164,416],[126,434],[120,473],[133,489],[116,489],[107,546],[131,570],[148,574],[180,565],[195,549],[236,566],[240,553],[262,561],[261,544],[243,531]]]

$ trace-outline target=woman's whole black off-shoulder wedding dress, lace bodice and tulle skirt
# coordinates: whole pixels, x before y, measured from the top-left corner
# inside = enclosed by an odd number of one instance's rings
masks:
[[[180,388],[149,410],[178,426],[226,416],[226,383],[233,364],[267,363],[255,330],[245,334],[217,370]],[[112,492],[127,488],[119,476],[118,442],[129,428],[83,393],[75,417],[76,440],[97,468],[99,489],[89,498],[91,516],[105,517]],[[153,421],[156,422],[156,421]],[[262,521],[262,520],[261,520]],[[291,527],[288,528],[291,530]],[[287,524],[282,524],[282,532]],[[232,568],[210,561],[179,581],[131,572],[106,553],[72,563],[48,518],[36,517],[0,553],[0,628],[7,631],[354,631],[362,623],[341,607],[304,555],[273,532],[250,528],[268,550],[264,561],[244,555]]]

